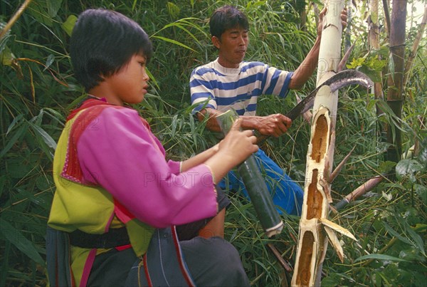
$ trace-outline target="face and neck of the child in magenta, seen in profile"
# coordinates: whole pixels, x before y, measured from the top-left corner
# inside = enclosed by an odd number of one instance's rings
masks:
[[[129,63],[114,75],[105,78],[107,93],[104,90],[104,98],[113,105],[123,103],[141,103],[147,93],[149,76],[145,71],[147,58],[142,54],[132,56]]]

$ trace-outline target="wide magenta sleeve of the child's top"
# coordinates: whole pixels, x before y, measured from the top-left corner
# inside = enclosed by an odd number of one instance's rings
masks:
[[[137,219],[158,228],[214,216],[216,190],[206,165],[179,173],[135,110],[107,108],[77,144],[86,182],[99,184]]]

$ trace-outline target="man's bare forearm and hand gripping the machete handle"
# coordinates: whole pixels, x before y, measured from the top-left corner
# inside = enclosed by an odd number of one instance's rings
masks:
[[[197,117],[200,121],[209,117],[206,121],[206,127],[208,130],[221,132],[221,128],[216,121],[216,116],[221,114],[222,113],[218,110],[205,108],[197,113]],[[257,115],[241,115],[240,118],[243,130],[258,130],[262,135],[271,135],[273,137],[283,135],[283,133],[285,133],[292,124],[292,121],[282,114],[267,115],[265,117]]]

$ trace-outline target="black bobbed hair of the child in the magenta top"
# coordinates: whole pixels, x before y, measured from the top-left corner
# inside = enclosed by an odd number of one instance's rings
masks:
[[[86,91],[139,53],[148,60],[152,43],[135,21],[105,9],[88,9],[78,16],[70,38],[70,56],[75,78]]]

